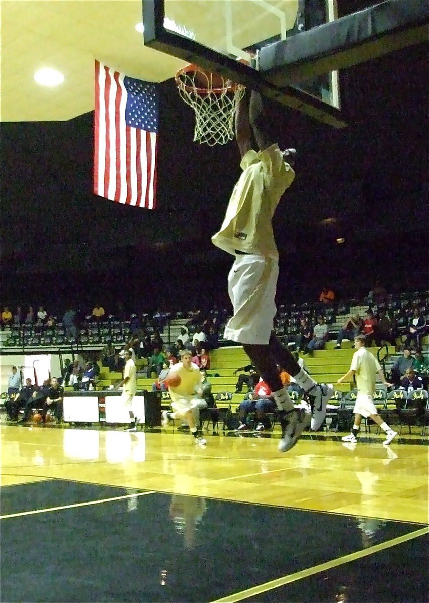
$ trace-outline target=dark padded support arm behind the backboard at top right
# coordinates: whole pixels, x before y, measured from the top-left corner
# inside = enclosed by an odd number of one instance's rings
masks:
[[[264,46],[258,69],[287,86],[428,40],[429,0],[386,0]]]

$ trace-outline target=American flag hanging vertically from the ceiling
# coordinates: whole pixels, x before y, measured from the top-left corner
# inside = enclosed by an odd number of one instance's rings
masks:
[[[157,84],[95,61],[95,195],[154,209],[157,130]]]

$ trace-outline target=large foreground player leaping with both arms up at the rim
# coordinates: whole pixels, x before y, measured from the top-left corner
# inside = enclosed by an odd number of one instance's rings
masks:
[[[261,95],[253,90],[250,107],[244,97],[235,114],[243,174],[212,242],[235,256],[228,277],[234,316],[226,326],[224,338],[243,344],[252,364],[272,390],[277,407],[284,411],[279,450],[286,452],[310,423],[312,429],[320,428],[334,388],[317,384],[302,370],[273,331],[279,265],[272,218],[282,195],[294,180],[292,166],[296,151],[281,151],[278,144],[270,142],[266,119]],[[259,152],[252,148],[252,131]],[[307,393],[311,414],[303,408],[294,408],[282,385],[277,364]]]

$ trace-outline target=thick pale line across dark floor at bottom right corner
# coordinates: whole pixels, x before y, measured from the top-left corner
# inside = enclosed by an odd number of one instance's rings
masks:
[[[319,565],[314,567],[308,567],[307,569],[300,570],[300,572],[291,573],[287,576],[283,576],[282,578],[276,578],[275,580],[264,582],[264,584],[258,584],[258,586],[254,586],[251,589],[241,590],[241,592],[235,593],[234,595],[228,595],[221,599],[216,599],[211,603],[235,603],[236,601],[243,601],[244,599],[249,599],[249,597],[265,593],[268,590],[278,589],[279,587],[285,586],[286,584],[290,584],[291,582],[296,582],[297,580],[301,580],[302,578],[308,578],[308,576],[313,576],[316,573],[332,569],[332,567],[338,567],[346,563],[350,563],[350,561],[355,561],[357,559],[361,559],[362,557],[367,557],[367,555],[372,555],[373,553],[376,553],[378,551],[383,551],[383,549],[388,549],[391,546],[400,545],[401,543],[406,542],[407,540],[418,538],[419,536],[422,536],[424,534],[429,534],[429,527],[418,529],[415,532],[409,532],[408,534],[398,536],[397,538],[393,538],[392,540],[386,540],[386,542],[381,542],[378,545],[370,546],[367,549],[356,551],[354,553],[350,553],[349,555],[343,555],[343,557],[338,557],[337,559],[326,561],[326,563],[320,563]]]

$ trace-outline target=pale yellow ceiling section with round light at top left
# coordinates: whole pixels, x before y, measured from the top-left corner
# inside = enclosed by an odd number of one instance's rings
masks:
[[[94,58],[132,77],[171,78],[185,63],[143,45],[141,0],[1,0],[1,121],[57,121],[94,109]],[[65,81],[39,86],[34,72]]]

